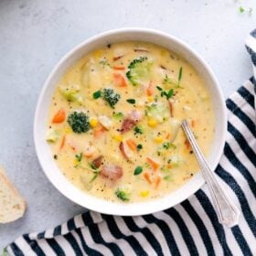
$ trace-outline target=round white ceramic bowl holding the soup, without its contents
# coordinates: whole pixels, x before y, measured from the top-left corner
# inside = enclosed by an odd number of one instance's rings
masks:
[[[208,164],[212,169],[215,169],[218,165],[219,158],[223,151],[227,130],[227,115],[225,101],[219,89],[219,83],[212,70],[208,67],[208,64],[184,42],[163,32],[147,28],[123,28],[108,31],[82,42],[79,46],[71,49],[69,53],[60,59],[55,69],[53,69],[48,76],[48,80],[46,80],[37,102],[37,111],[34,123],[34,139],[39,162],[50,182],[64,196],[68,197],[80,206],[105,214],[133,216],[153,213],[165,208],[173,207],[182,202],[187,197],[194,194],[197,189],[202,187],[205,183],[201,173],[199,172],[196,176],[191,178],[185,186],[180,187],[178,190],[165,197],[160,197],[143,203],[112,203],[97,197],[92,197],[80,191],[79,188],[74,187],[69,180],[62,175],[62,172],[53,160],[50,148],[45,140],[48,106],[51,101],[53,91],[64,73],[78,59],[89,53],[91,50],[101,48],[102,46],[110,43],[127,40],[151,42],[171,49],[181,57],[187,59],[205,80],[206,86],[208,87],[208,91],[210,91],[213,100],[216,118],[215,138],[213,140],[211,153],[208,155]]]

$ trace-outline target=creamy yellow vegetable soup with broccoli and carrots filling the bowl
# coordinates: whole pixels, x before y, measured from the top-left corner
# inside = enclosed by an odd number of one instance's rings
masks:
[[[62,77],[46,139],[64,176],[85,193],[145,201],[198,171],[180,126],[185,118],[208,155],[214,112],[196,69],[165,48],[123,42],[89,53]]]

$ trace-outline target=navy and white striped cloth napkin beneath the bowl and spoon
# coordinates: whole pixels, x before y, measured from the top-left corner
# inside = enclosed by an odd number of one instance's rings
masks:
[[[256,66],[256,30],[247,49]],[[254,67],[256,70],[256,68]],[[256,75],[256,72],[255,72]],[[254,77],[226,101],[227,142],[216,174],[240,208],[239,225],[219,224],[208,188],[174,208],[141,217],[86,212],[7,246],[10,255],[256,255],[256,130]]]

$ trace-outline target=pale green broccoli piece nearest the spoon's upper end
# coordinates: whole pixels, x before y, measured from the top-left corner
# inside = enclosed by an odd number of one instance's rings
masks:
[[[169,110],[164,102],[154,102],[146,107],[146,116],[163,123],[170,116]]]

